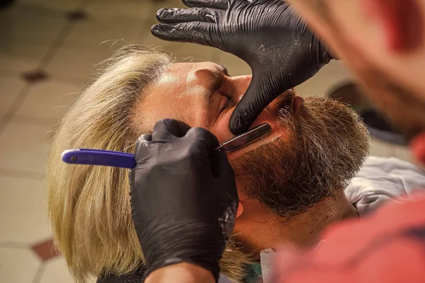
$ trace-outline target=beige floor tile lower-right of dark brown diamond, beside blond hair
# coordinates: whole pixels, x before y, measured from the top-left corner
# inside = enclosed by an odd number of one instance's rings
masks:
[[[35,117],[57,123],[79,97],[83,86],[77,83],[45,81],[31,88],[17,115]]]

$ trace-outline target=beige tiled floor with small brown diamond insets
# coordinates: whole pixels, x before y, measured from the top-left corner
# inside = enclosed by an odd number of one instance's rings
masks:
[[[94,74],[125,42],[161,46],[179,59],[249,67],[210,47],[162,42],[150,35],[155,12],[179,0],[16,0],[0,11],[0,282],[72,282],[50,242],[45,174],[50,130]],[[115,42],[115,43],[114,43]],[[112,46],[112,47],[111,47]],[[299,86],[323,94],[350,78],[332,62]],[[409,160],[407,149],[373,141],[373,154]]]

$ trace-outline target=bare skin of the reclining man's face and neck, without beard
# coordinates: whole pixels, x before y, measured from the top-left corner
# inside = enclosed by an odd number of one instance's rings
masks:
[[[178,119],[192,127],[210,130],[221,143],[234,137],[229,131],[229,119],[250,81],[251,76],[229,76],[225,68],[211,62],[171,64],[162,77],[145,91],[143,100],[137,105],[137,119],[151,128],[157,120],[165,117]],[[212,97],[207,105],[205,98],[209,93],[212,93]],[[296,118],[302,100],[298,98],[295,101]],[[288,130],[278,125],[277,110],[278,103],[274,101],[251,126],[267,122],[272,127],[272,134],[244,149],[229,153],[229,161],[262,144],[288,139]],[[260,250],[283,243],[308,246],[316,241],[319,231],[329,222],[357,215],[341,193],[339,197],[324,200],[310,212],[287,221],[273,214],[258,200],[249,199],[244,194],[243,185],[236,181],[240,203],[234,233],[238,234],[237,239],[246,251],[257,257]]]

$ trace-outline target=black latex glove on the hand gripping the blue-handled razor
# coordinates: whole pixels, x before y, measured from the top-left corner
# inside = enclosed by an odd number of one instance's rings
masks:
[[[160,120],[137,140],[130,196],[147,274],[189,262],[217,280],[239,203],[225,152],[212,151],[217,146],[208,130],[177,120]]]

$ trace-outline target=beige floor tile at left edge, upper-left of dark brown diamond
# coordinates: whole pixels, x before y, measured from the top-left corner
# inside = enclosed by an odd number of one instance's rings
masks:
[[[19,74],[37,69],[49,49],[50,45],[0,42],[0,70]]]

